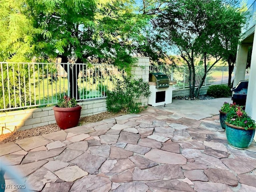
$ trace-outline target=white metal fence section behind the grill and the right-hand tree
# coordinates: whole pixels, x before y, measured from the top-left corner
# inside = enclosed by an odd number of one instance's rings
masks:
[[[187,66],[154,66],[149,67],[150,72],[160,72],[166,74],[170,80],[175,80],[177,84],[173,85],[174,89],[189,87],[189,70]],[[200,84],[204,76],[204,67],[196,66],[196,86]],[[232,74],[232,79],[234,74]],[[228,66],[213,66],[207,73],[204,85],[210,84],[227,84],[228,83]]]

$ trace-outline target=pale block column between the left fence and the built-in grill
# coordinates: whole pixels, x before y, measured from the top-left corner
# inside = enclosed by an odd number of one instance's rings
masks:
[[[132,79],[142,78],[145,82],[148,82],[149,76],[149,57],[136,57],[137,62],[132,66],[131,75]],[[139,102],[142,106],[148,105],[148,98],[141,97]]]

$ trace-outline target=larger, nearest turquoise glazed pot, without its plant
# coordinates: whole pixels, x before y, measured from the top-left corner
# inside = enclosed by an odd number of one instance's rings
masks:
[[[244,130],[242,127],[238,127],[232,124],[226,123],[226,136],[228,143],[237,149],[246,149],[252,143],[255,129]]]

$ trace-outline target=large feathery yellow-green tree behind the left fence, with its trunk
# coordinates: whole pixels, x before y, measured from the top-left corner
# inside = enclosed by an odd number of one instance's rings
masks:
[[[26,30],[19,34],[27,38],[17,38],[17,44],[25,44],[26,49],[15,49],[5,54],[3,60],[22,56],[23,60],[36,58],[45,62],[60,57],[62,63],[94,60],[129,70],[133,55],[156,53],[156,46],[146,36],[151,16],[136,12],[131,0],[19,0],[15,9],[14,1],[5,2],[4,9],[21,10],[17,14],[27,22],[22,23]],[[6,34],[10,33],[8,26],[4,28]],[[7,39],[6,36],[3,42]],[[8,47],[16,46],[5,46],[5,53]],[[156,54],[151,58],[156,59]],[[62,66],[70,76],[70,96],[78,98],[77,78],[82,66]]]

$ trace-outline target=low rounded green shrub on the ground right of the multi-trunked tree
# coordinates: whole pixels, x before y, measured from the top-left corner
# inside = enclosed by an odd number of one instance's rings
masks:
[[[232,91],[226,85],[211,85],[207,90],[207,95],[215,98],[230,97]]]

